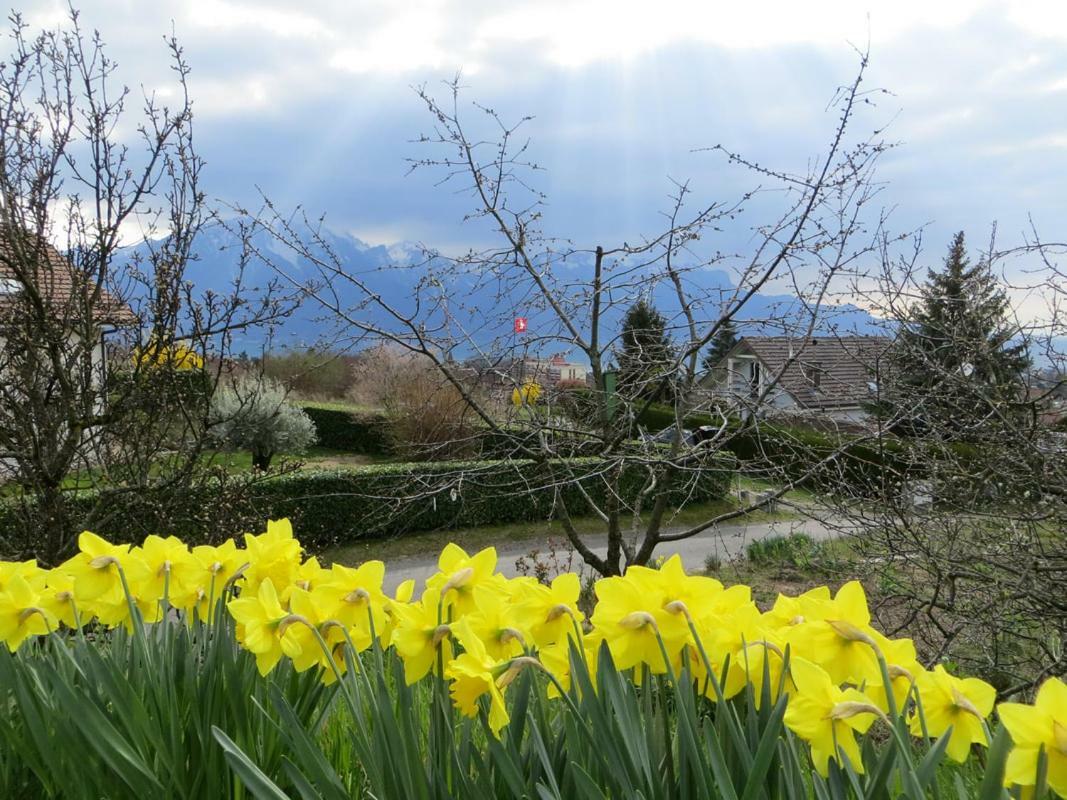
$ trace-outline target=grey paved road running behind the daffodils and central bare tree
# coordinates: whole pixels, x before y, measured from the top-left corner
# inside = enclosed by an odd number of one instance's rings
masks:
[[[674,532],[678,529],[668,529]],[[704,561],[707,556],[717,554],[719,558],[727,561],[740,553],[750,543],[760,539],[768,539],[774,535],[789,535],[793,532],[805,532],[812,539],[829,539],[834,535],[834,526],[829,522],[824,522],[814,517],[806,516],[793,519],[776,519],[769,523],[738,523],[735,525],[721,525],[713,530],[706,530],[695,537],[683,539],[678,542],[667,542],[656,547],[657,557],[673,556],[675,553],[682,556],[686,567],[690,572],[698,572],[704,569]],[[598,544],[596,540],[603,537],[586,538],[593,551],[603,556],[607,546]],[[556,540],[560,541],[559,539]],[[513,577],[519,574],[515,567],[515,560],[525,556],[530,550],[539,549],[544,554],[548,548],[548,541],[541,539],[524,539],[521,542],[509,542],[497,545],[498,572]],[[563,554],[566,559],[567,554]],[[582,557],[574,554],[574,569],[582,564]],[[397,585],[409,578],[416,581],[416,594],[421,591],[423,581],[437,571],[437,554],[427,556],[414,556],[402,559],[389,559],[385,570],[385,590],[393,592]]]

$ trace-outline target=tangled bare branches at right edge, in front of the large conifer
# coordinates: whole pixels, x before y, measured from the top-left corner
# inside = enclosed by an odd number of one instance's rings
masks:
[[[1036,235],[1002,250],[994,228],[975,262],[1012,302],[996,319],[978,319],[992,333],[975,337],[966,322],[933,333],[918,325],[930,291],[927,256],[919,240],[905,254],[886,247],[878,279],[857,287],[901,334],[889,358],[896,368],[873,402],[867,452],[877,486],[866,497],[819,498],[850,534],[885,628],[914,637],[929,661],[986,676],[1004,695],[1067,672],[1067,435],[1053,425],[1067,413],[1065,253]],[[973,304],[967,314],[990,307],[966,286],[960,295]],[[1017,374],[982,368],[997,348]],[[839,474],[837,485],[855,481]]]

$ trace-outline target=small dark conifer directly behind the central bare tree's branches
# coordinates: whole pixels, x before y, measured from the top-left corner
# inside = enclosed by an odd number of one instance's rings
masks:
[[[647,300],[638,300],[622,321],[619,391],[627,398],[667,400],[674,349],[667,320]]]

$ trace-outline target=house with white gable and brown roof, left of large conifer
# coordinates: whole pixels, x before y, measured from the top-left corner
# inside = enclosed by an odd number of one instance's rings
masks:
[[[745,336],[700,383],[743,415],[862,425],[889,347],[879,336]]]

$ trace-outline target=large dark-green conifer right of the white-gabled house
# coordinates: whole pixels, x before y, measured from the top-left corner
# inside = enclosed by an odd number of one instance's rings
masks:
[[[989,263],[972,267],[956,234],[899,332],[890,393],[896,416],[962,438],[1014,416],[1030,357],[1025,345],[1012,341],[1009,310]]]

